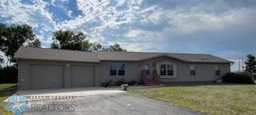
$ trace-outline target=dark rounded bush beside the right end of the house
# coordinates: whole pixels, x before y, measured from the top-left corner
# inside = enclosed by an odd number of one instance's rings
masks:
[[[227,83],[254,84],[254,77],[249,73],[226,73],[222,77],[222,81]]]

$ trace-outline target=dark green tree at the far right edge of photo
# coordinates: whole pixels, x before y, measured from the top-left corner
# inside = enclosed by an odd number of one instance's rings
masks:
[[[246,72],[252,74],[252,71],[254,70],[254,66],[256,65],[255,56],[252,54],[248,54],[246,57]]]

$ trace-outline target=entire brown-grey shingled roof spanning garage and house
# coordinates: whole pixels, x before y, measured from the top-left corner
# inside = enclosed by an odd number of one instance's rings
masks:
[[[143,53],[143,52],[99,52],[90,53],[74,50],[53,50],[42,48],[21,47],[14,56],[22,59],[53,60],[53,61],[143,61],[154,57],[170,57],[186,62],[213,62],[230,63],[221,57],[210,54],[170,54],[170,53]],[[202,57],[205,57],[202,59]]]

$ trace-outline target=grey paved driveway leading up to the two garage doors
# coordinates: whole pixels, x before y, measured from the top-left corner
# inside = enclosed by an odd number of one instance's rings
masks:
[[[107,90],[107,89],[106,89]],[[81,114],[81,115],[195,115],[190,109],[171,105],[163,101],[140,97],[132,93],[98,93],[83,95],[71,100],[48,100],[29,102],[26,114]],[[90,90],[93,92],[93,90]],[[102,90],[104,91],[104,90]],[[85,91],[84,91],[85,92]],[[59,93],[57,93],[59,94]],[[63,93],[62,93],[63,94]],[[74,93],[73,93],[74,94]],[[71,95],[71,94],[66,94]],[[55,105],[55,107],[53,106]],[[50,107],[51,106],[51,107]],[[32,109],[33,108],[33,109]],[[39,109],[38,109],[39,108]],[[68,108],[68,109],[63,109]]]

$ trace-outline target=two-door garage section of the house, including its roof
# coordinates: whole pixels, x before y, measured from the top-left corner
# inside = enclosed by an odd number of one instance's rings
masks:
[[[100,85],[98,54],[20,47],[18,89],[62,89]]]

